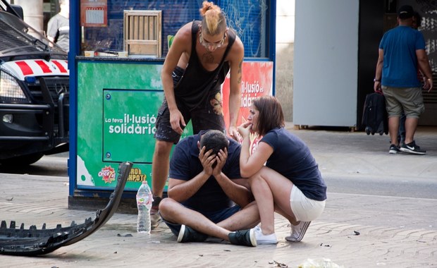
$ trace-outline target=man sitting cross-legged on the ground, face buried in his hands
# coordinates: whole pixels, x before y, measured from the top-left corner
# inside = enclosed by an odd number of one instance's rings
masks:
[[[258,207],[243,186],[247,179],[241,178],[239,163],[240,145],[219,130],[201,131],[176,145],[159,213],[178,242],[214,236],[257,245],[251,228],[259,223]]]

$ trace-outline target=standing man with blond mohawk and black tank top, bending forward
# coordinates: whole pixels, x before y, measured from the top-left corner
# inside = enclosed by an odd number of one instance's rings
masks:
[[[219,6],[204,1],[202,21],[185,24],[176,33],[161,72],[165,99],[156,121],[152,162],[152,226],[159,220],[158,205],[168,176],[168,162],[188,121],[193,132],[215,129],[226,132],[221,111],[221,84],[230,71],[228,135],[238,137],[240,87],[244,47],[228,29]]]

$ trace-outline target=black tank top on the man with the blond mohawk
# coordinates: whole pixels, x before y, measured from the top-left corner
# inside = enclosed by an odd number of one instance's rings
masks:
[[[225,59],[230,47],[235,42],[235,32],[228,30],[228,47],[226,47],[226,51],[223,54],[223,59],[221,59],[219,66],[214,71],[207,71],[202,66],[196,53],[197,32],[199,31],[200,23],[199,20],[195,20],[192,23],[190,59],[187,68],[183,71],[182,78],[180,78],[174,87],[176,99],[181,100],[190,110],[203,107],[209,95],[220,92],[221,84],[224,82],[230,69],[229,63],[228,61],[225,62]]]

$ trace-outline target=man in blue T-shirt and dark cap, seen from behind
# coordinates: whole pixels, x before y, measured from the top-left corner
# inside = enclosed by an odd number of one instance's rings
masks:
[[[424,88],[432,90],[431,66],[425,51],[424,36],[412,28],[414,11],[412,6],[401,6],[398,10],[398,27],[388,30],[379,44],[378,63],[374,79],[374,90],[386,97],[390,154],[399,150],[411,154],[426,154],[414,141],[419,116],[424,112],[421,83],[417,78],[418,68],[426,78]],[[402,111],[405,120],[405,142],[398,142],[399,118]]]

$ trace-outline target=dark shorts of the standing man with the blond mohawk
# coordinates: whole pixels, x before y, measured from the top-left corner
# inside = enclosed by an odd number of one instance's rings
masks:
[[[179,70],[180,72],[180,70]],[[173,71],[173,85],[178,83],[178,69]],[[182,114],[185,124],[191,120],[193,134],[199,133],[200,130],[220,130],[226,132],[225,119],[223,117],[221,92],[211,92],[207,101],[203,106],[191,110],[183,104],[183,102],[176,100],[176,104],[180,113]],[[154,138],[165,142],[178,143],[180,135],[171,128],[170,111],[168,104],[164,98],[156,118],[156,132]],[[180,126],[182,129],[185,127]]]

